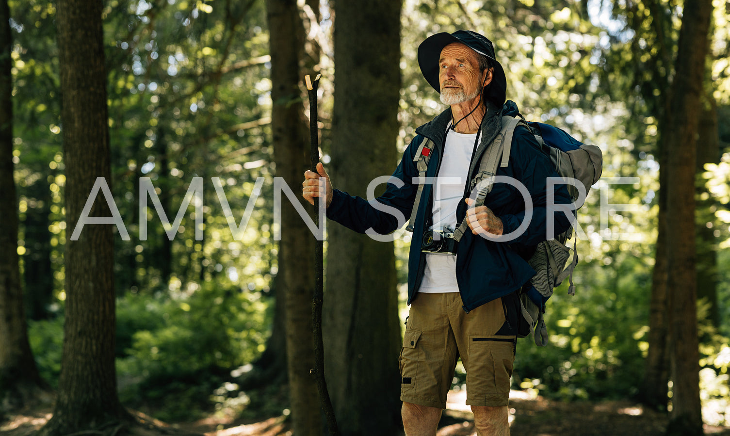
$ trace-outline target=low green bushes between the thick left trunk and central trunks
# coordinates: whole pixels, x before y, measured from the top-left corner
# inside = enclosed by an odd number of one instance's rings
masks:
[[[118,342],[130,344],[118,359],[120,397],[169,420],[210,410],[212,392],[228,372],[263,351],[271,322],[266,307],[258,292],[212,285],[177,299],[120,299]]]

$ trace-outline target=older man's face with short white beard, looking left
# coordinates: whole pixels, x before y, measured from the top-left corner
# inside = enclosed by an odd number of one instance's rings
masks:
[[[483,79],[474,50],[459,42],[452,42],[441,50],[439,82],[442,103],[459,104],[477,98],[482,91]],[[486,83],[489,81],[491,77]]]

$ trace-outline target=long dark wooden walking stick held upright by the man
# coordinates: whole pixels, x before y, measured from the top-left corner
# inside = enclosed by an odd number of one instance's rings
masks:
[[[307,83],[307,93],[310,96],[310,145],[312,172],[317,172],[319,163],[319,135],[317,129],[317,86],[319,85],[320,74],[317,74],[312,81],[309,75],[304,76]],[[321,201],[321,198],[318,199]],[[326,202],[327,199],[325,198]],[[320,207],[315,203],[315,222],[320,222]],[[324,211],[321,211],[324,213]],[[324,378],[324,343],[322,340],[322,302],[324,295],[324,271],[323,271],[323,241],[315,237],[315,294],[312,297],[312,328],[315,334],[315,367],[310,371],[317,380],[317,390],[322,402],[322,410],[327,418],[327,428],[331,436],[339,436],[337,429],[337,418],[334,416],[332,402],[327,391],[327,381]]]

